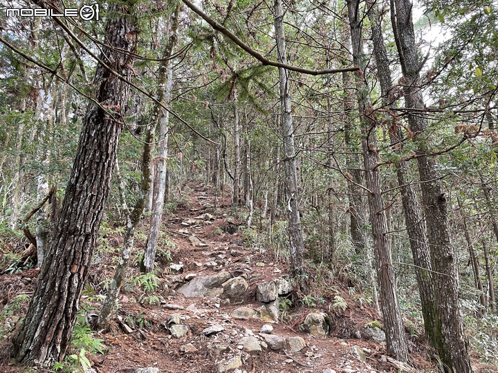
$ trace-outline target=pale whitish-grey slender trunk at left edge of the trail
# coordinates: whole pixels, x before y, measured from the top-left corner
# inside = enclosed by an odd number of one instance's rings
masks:
[[[178,12],[179,6],[176,6],[174,14],[171,17],[171,29],[169,31],[169,40],[163,52],[163,61],[159,67],[159,82],[156,99],[165,105],[169,105],[172,97],[173,69],[169,64],[169,57],[176,45],[178,29]],[[151,224],[149,236],[145,245],[143,267],[147,273],[153,271],[154,260],[156,258],[157,242],[159,238],[160,222],[163,218],[163,206],[166,189],[166,168],[167,168],[167,133],[169,124],[169,112],[163,112],[158,104],[154,105],[154,111],[151,115],[153,126],[159,126],[158,158],[156,160],[156,173],[154,175],[154,205],[152,206]]]

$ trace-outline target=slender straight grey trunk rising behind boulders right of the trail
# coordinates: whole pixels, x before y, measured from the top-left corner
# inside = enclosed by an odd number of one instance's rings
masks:
[[[284,35],[284,10],[282,0],[275,0],[273,8],[275,18],[275,39],[277,39],[278,61],[287,63],[286,41]],[[294,276],[299,276],[299,287],[304,290],[304,243],[302,238],[301,218],[299,217],[299,198],[297,195],[297,171],[294,149],[294,126],[291,108],[291,89],[288,70],[279,68],[280,104],[282,106],[282,137],[284,139],[284,168],[289,199],[287,201],[288,235],[291,252],[291,269]]]

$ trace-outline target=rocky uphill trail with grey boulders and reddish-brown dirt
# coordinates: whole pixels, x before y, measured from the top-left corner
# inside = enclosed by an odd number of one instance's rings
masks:
[[[418,372],[386,355],[383,332],[375,323],[365,327],[374,310],[358,305],[344,284],[333,284],[345,305],[338,312],[331,312],[329,301],[316,308],[300,305],[282,322],[279,296],[293,297],[286,265],[248,249],[229,209],[214,209],[208,187],[186,189],[188,202],[163,219],[176,248],[170,249],[172,262],[158,263],[158,289],[149,294],[156,304],[144,302],[138,285],[122,289],[111,331],[95,335],[110,348],[91,358],[92,372]],[[119,247],[119,239],[114,241]],[[138,240],[136,251],[144,244]],[[99,260],[89,276],[96,289],[113,274]],[[26,290],[36,275],[33,270],[1,280]],[[131,268],[129,276],[138,278],[139,269]],[[98,311],[97,298],[86,294],[84,303]],[[95,310],[87,313],[92,317]],[[414,341],[411,347],[416,365],[429,367],[423,346]],[[0,363],[0,371],[10,370]]]

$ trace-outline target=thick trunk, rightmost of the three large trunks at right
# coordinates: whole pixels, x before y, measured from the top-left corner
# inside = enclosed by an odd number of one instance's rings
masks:
[[[405,80],[403,94],[407,108],[425,108],[418,71],[421,61],[412,21],[412,3],[409,0],[391,0],[391,21]],[[430,156],[425,130],[427,118],[408,115],[408,123],[415,135],[418,155],[418,173],[425,216],[427,240],[434,270],[434,299],[441,319],[442,344],[436,349],[445,366],[445,372],[472,372],[468,341],[463,333],[463,318],[459,302],[458,253],[452,245],[448,222],[448,202],[441,187],[440,174],[434,157]]]

